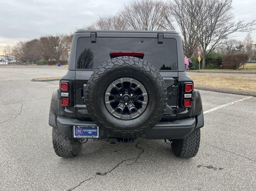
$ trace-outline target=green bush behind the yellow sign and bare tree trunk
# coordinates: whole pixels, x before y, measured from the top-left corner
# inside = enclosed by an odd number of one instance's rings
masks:
[[[192,56],[193,67],[195,70],[199,69],[198,56]],[[202,69],[202,56],[200,62],[200,69]],[[210,53],[205,58],[205,68],[206,69],[219,69],[222,65],[222,54],[219,53]]]

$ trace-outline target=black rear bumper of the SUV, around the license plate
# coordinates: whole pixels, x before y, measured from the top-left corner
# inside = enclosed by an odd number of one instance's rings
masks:
[[[73,118],[66,118],[55,115],[51,110],[49,114],[49,125],[59,128],[70,138],[73,138],[72,127],[78,126],[96,126],[92,121],[82,121]],[[198,116],[174,120],[171,122],[158,122],[154,128],[142,135],[146,139],[181,139],[185,138],[195,128],[204,126],[204,116],[201,112]],[[104,130],[99,130],[99,138],[106,139],[114,137],[114,135],[107,134]]]

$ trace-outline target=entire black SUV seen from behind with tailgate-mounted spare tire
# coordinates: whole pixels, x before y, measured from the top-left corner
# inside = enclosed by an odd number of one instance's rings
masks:
[[[136,138],[162,139],[176,156],[196,156],[202,101],[186,75],[180,35],[78,30],[49,124],[60,157],[76,156],[88,139]]]

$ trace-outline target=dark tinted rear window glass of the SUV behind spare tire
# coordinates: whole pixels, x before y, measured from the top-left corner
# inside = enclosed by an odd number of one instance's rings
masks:
[[[112,51],[143,52],[148,61],[158,70],[178,70],[177,43],[175,39],[164,38],[162,44],[158,38],[97,37],[91,43],[90,37],[80,37],[77,41],[76,68],[96,69],[111,59]]]

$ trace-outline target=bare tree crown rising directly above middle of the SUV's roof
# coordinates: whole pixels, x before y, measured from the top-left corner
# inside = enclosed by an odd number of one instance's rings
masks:
[[[166,3],[161,0],[132,0],[120,12],[130,30],[167,30]]]

